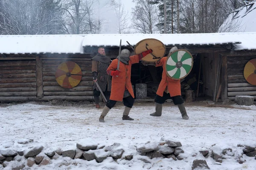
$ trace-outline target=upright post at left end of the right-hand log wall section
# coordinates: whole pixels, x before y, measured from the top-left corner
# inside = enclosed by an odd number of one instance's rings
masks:
[[[227,55],[222,56],[221,63],[221,99],[227,99]]]

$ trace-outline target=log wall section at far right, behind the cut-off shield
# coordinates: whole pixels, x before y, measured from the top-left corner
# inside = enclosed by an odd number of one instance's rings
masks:
[[[227,95],[231,100],[236,95],[250,95],[256,101],[256,86],[247,83],[244,78],[244,66],[256,56],[227,57]]]

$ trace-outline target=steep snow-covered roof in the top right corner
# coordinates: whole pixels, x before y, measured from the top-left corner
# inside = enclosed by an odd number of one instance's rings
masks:
[[[230,12],[219,32],[256,32],[256,0]]]

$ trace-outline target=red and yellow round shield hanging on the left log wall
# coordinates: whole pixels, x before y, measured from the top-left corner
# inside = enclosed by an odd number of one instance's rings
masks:
[[[60,86],[70,89],[80,83],[82,71],[77,63],[66,61],[58,66],[55,72],[55,78]]]

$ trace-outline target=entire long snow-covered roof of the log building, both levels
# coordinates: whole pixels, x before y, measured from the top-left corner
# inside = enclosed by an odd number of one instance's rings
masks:
[[[84,46],[132,46],[145,38],[165,45],[234,44],[234,50],[256,50],[256,32],[207,34],[0,35],[0,54],[84,53]]]

